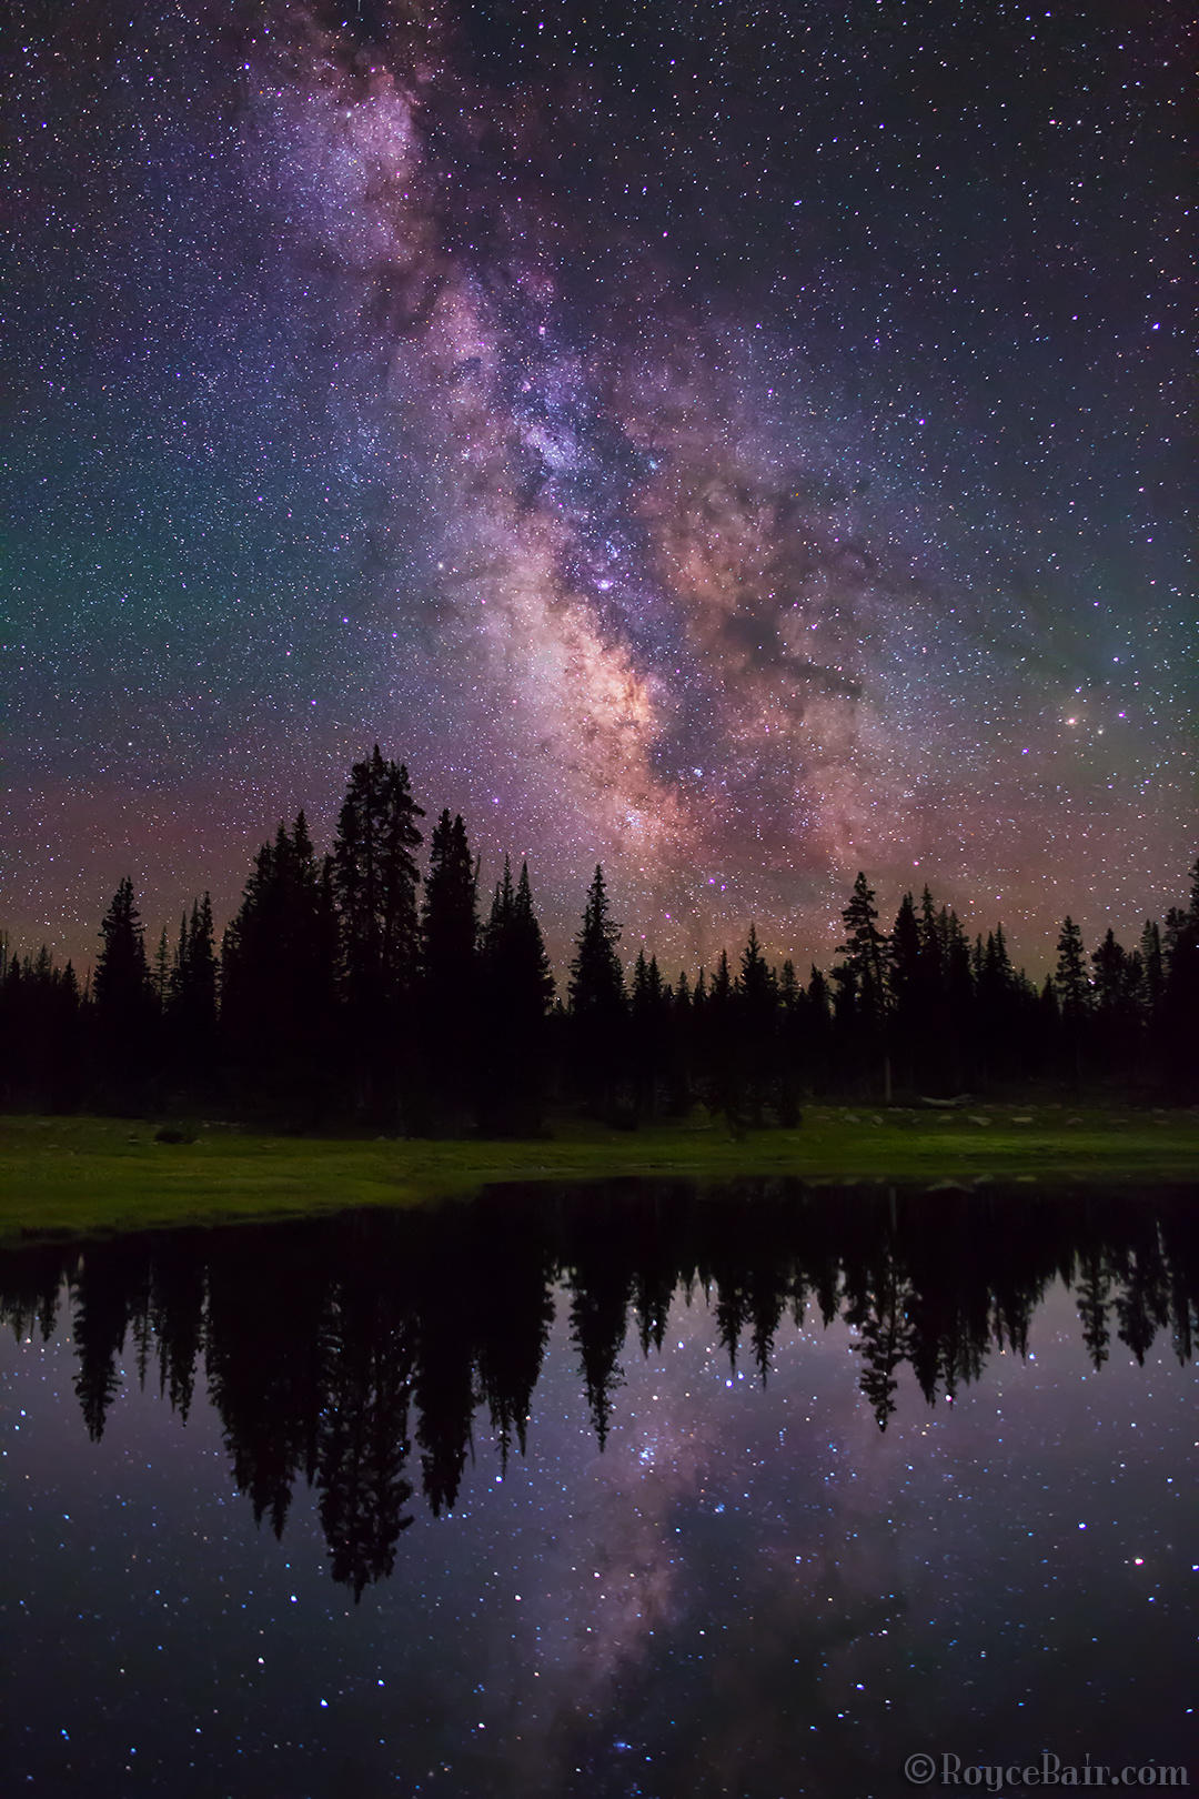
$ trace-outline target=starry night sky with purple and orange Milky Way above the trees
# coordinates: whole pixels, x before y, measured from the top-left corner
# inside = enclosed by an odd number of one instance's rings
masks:
[[[377,739],[561,955],[1044,966],[1195,849],[1185,9],[25,4],[0,912],[156,934]],[[1089,943],[1088,943],[1089,946]]]

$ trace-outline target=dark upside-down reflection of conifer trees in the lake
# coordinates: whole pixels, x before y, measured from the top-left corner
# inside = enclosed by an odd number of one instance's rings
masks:
[[[358,1598],[392,1572],[421,1499],[453,1508],[480,1409],[503,1464],[525,1452],[557,1292],[602,1448],[622,1356],[662,1349],[678,1293],[705,1293],[730,1364],[760,1382],[787,1315],[852,1326],[886,1430],[904,1367],[928,1405],[953,1400],[998,1351],[1026,1353],[1059,1279],[1095,1369],[1113,1342],[1143,1362],[1159,1333],[1188,1362],[1194,1195],[509,1187],[433,1213],[14,1252],[0,1258],[0,1308],[18,1338],[49,1338],[70,1308],[93,1439],[126,1346],[138,1383],[156,1382],[183,1418],[203,1378],[255,1518],[282,1535],[297,1482],[313,1486],[333,1578]]]

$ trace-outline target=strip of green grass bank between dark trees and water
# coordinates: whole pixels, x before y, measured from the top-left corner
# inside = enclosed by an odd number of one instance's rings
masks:
[[[0,1117],[0,1241],[413,1205],[498,1180],[613,1175],[1199,1182],[1199,1114],[814,1106],[800,1130],[741,1141],[699,1117],[640,1132],[563,1123],[534,1142],[266,1137],[205,1124],[192,1144],[155,1142],[155,1124],[128,1119]]]

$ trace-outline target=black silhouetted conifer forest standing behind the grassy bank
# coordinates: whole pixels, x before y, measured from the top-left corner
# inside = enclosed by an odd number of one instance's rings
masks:
[[[83,986],[0,939],[0,1103],[528,1133],[557,1106],[635,1126],[705,1105],[739,1130],[795,1124],[805,1097],[1199,1097],[1199,860],[1188,903],[1131,948],[1107,930],[1088,953],[1068,916],[1039,986],[1001,925],[971,939],[928,887],[883,928],[865,874],[830,970],[771,966],[750,925],[735,961],[671,980],[644,950],[624,964],[597,867],[557,995],[528,867],[505,860],[484,901],[446,810],[422,873],[424,817],[376,745],[333,849],[302,811],[280,824],[219,943],[205,892],[147,950],[129,880]]]

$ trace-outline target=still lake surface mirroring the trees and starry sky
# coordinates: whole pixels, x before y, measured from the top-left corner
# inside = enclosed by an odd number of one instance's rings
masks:
[[[1199,1785],[1197,1189],[494,1189],[0,1311],[5,1795]]]

